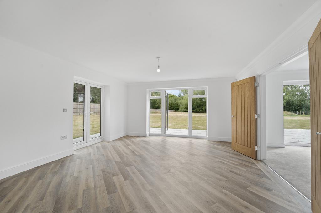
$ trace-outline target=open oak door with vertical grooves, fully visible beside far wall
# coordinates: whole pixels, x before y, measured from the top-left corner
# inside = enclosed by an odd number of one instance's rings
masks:
[[[231,83],[232,149],[256,159],[255,76]]]

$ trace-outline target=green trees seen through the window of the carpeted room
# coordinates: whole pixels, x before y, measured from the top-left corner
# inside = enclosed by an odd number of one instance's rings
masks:
[[[310,85],[283,86],[283,110],[310,111]]]

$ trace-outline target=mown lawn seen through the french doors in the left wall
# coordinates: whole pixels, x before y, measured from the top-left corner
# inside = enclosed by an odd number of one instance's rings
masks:
[[[73,139],[83,136],[83,115],[74,115],[73,119]],[[90,134],[100,133],[100,115],[90,115]]]

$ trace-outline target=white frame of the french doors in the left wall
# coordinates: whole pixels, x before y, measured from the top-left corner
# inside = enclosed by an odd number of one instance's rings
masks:
[[[93,143],[96,140],[103,139],[103,99],[104,99],[104,87],[92,84],[89,82],[74,80],[74,83],[79,83],[85,85],[85,94],[84,94],[84,140],[80,142],[73,143],[73,147]],[[101,89],[101,98],[100,98],[100,137],[90,138],[90,87],[96,87]],[[73,112],[74,113],[74,112]]]

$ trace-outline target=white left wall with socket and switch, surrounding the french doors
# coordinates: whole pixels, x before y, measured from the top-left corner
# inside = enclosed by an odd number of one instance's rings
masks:
[[[104,138],[124,135],[125,83],[0,37],[0,179],[73,154],[74,76],[108,85]]]

